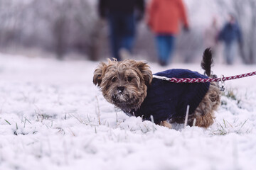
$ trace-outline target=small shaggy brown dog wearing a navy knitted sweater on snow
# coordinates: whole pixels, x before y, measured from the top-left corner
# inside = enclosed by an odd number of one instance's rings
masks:
[[[203,53],[201,66],[208,77],[212,65],[210,49]],[[169,69],[156,75],[176,78],[208,77],[188,69]],[[134,60],[108,60],[95,69],[93,83],[100,86],[106,100],[127,115],[141,116],[143,120],[171,128],[170,123],[184,123],[186,106],[190,106],[188,125],[208,128],[213,124],[214,111],[220,105],[217,83],[175,84],[153,78],[149,65]]]

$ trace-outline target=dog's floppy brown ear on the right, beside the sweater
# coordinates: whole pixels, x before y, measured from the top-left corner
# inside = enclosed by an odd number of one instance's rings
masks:
[[[146,62],[136,62],[136,67],[139,69],[140,72],[142,72],[142,76],[146,86],[149,86],[149,84],[151,84],[151,81],[153,79],[152,72],[149,65]]]

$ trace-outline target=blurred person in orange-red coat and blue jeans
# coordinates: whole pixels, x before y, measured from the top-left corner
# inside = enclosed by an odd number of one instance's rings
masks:
[[[166,66],[174,53],[180,23],[189,30],[185,6],[182,0],[151,0],[147,12],[149,28],[156,35],[159,64]]]

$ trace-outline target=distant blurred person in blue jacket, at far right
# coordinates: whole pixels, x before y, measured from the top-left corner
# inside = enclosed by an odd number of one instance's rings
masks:
[[[218,35],[218,40],[223,40],[225,44],[225,60],[227,64],[233,64],[236,47],[238,42],[242,45],[242,35],[235,16],[229,14],[228,21],[225,23],[225,26],[220,30]]]

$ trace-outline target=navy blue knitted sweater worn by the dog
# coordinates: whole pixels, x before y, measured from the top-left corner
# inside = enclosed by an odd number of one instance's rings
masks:
[[[169,78],[208,78],[188,69],[169,69],[155,75]],[[187,106],[190,106],[189,114],[193,113],[206,95],[209,86],[210,83],[176,84],[153,79],[142,106],[134,112],[134,115],[141,116],[144,120],[150,120],[150,115],[153,115],[155,123],[171,118],[183,119]]]

